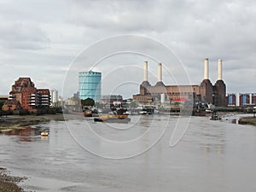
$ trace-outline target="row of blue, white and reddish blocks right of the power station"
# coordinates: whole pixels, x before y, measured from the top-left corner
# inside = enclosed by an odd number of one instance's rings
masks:
[[[256,105],[256,93],[229,93],[228,106]]]

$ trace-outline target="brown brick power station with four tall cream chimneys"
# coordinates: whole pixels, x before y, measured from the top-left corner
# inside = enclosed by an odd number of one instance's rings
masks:
[[[152,103],[163,100],[186,99],[193,102],[212,103],[218,107],[225,107],[226,85],[222,79],[222,60],[218,60],[218,80],[214,85],[209,79],[209,61],[205,59],[204,79],[201,84],[194,85],[165,85],[162,81],[162,64],[158,65],[158,82],[151,85],[148,82],[148,61],[144,62],[143,83],[140,84],[140,93],[133,99],[141,103]]]

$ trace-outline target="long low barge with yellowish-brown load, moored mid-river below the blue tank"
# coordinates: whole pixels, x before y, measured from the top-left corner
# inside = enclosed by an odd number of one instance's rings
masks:
[[[108,123],[128,123],[131,121],[128,114],[102,114],[94,118],[95,122],[108,122]]]

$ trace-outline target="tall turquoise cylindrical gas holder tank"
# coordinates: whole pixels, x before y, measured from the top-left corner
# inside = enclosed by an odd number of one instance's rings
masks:
[[[101,101],[102,73],[79,72],[79,96],[80,99],[91,98],[96,102]]]

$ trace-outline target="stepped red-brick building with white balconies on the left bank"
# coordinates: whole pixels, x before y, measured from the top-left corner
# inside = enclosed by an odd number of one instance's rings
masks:
[[[3,104],[3,110],[20,110],[22,108],[36,111],[38,108],[49,108],[49,102],[49,89],[37,89],[30,78],[19,78],[12,85],[9,100]]]

